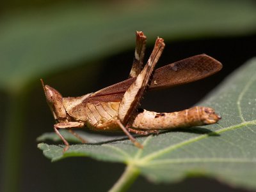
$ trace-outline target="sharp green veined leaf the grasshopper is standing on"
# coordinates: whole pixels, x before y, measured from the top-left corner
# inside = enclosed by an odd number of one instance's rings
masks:
[[[125,163],[128,174],[125,172],[124,178],[131,175],[129,170],[154,182],[207,175],[232,186],[256,189],[255,71],[256,58],[230,75],[200,103],[220,113],[222,119],[218,124],[139,137],[144,149],[134,147],[127,139],[71,145],[64,154],[63,145],[42,143],[38,147],[52,161],[68,156],[90,156]]]

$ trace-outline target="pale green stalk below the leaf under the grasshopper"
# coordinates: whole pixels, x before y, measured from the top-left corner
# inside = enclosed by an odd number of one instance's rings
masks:
[[[128,165],[125,168],[125,172],[118,179],[115,185],[109,190],[109,192],[124,192],[135,181],[140,174],[139,170],[134,165]]]

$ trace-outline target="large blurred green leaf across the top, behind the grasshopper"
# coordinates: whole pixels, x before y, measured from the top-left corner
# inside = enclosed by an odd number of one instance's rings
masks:
[[[20,91],[44,74],[153,42],[256,31],[252,1],[63,3],[5,13],[0,20],[0,89]]]

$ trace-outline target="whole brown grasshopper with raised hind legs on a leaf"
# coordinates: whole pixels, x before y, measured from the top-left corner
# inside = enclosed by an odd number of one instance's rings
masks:
[[[84,96],[63,98],[60,92],[44,85],[41,80],[47,103],[56,121],[54,131],[66,145],[64,152],[69,144],[59,129],[68,129],[82,142],[86,141],[72,131],[72,128],[88,127],[95,131],[122,130],[136,147],[143,148],[129,132],[147,135],[163,129],[213,124],[221,119],[209,107],[193,107],[172,113],[150,112],[138,108],[147,88],[152,90],[186,84],[208,77],[222,68],[220,62],[202,54],[154,71],[164,49],[162,38],[157,38],[152,54],[143,67],[146,39],[142,32],[136,32],[135,58],[129,78],[118,84]]]

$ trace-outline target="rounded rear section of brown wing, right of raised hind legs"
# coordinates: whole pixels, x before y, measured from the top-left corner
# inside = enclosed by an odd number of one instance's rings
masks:
[[[222,64],[212,57],[201,54],[158,68],[149,89],[161,89],[195,82],[217,73]]]

